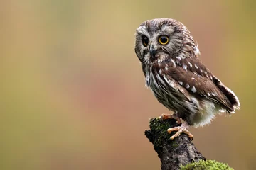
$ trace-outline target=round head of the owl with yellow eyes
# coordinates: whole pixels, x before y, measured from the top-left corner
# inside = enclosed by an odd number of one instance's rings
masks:
[[[142,64],[198,57],[200,54],[189,30],[171,18],[157,18],[142,23],[136,30],[135,52]]]

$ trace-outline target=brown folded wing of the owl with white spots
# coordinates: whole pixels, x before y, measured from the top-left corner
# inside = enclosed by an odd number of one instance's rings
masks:
[[[228,111],[234,111],[233,104],[223,91],[216,86],[214,77],[197,58],[181,60],[176,67],[166,70],[167,78],[174,79],[190,94],[201,96],[225,106]]]

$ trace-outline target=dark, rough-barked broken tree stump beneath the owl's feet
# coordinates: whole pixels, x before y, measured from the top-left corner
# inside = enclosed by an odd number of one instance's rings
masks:
[[[176,170],[191,162],[206,160],[198,152],[191,139],[186,134],[170,140],[171,135],[167,133],[168,128],[178,126],[176,120],[168,119],[161,121],[159,118],[152,118],[149,122],[150,130],[145,130],[145,135],[154,145],[154,149],[161,160],[161,170]]]

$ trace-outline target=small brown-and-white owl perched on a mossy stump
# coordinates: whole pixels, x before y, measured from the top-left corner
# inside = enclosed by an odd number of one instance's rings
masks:
[[[136,30],[135,53],[142,64],[146,86],[157,100],[174,114],[162,114],[161,120],[174,118],[181,133],[193,135],[190,126],[209,124],[218,113],[235,113],[240,102],[198,58],[198,45],[183,23],[157,18],[142,23]]]

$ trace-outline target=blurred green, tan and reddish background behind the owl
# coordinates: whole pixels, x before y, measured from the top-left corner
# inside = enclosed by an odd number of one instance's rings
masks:
[[[241,110],[191,128],[207,159],[256,169],[255,1],[0,1],[0,169],[160,169],[144,136],[170,113],[144,86],[134,33],[175,18]]]

